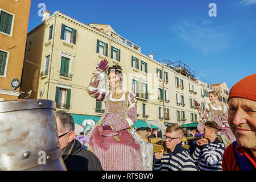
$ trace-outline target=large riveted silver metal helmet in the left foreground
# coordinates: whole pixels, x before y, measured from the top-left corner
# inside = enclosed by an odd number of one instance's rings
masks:
[[[67,170],[55,110],[50,100],[0,102],[0,171]]]

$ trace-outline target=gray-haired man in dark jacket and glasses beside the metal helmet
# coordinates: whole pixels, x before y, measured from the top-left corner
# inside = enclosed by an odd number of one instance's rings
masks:
[[[75,138],[75,122],[72,115],[56,111],[56,123],[60,149],[68,171],[102,171],[100,160],[93,152],[81,147]]]

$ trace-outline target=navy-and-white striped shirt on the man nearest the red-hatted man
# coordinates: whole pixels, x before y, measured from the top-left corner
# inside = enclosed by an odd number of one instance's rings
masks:
[[[200,162],[199,170],[201,171],[221,171],[224,151],[224,143],[221,143],[216,137],[212,143],[197,146],[192,154],[192,159],[195,163]]]

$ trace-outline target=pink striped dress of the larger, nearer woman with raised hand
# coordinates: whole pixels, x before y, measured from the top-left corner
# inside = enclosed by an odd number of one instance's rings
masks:
[[[137,101],[133,92],[125,93],[118,100],[112,92],[98,89],[100,74],[95,73],[88,87],[90,96],[106,104],[97,127],[92,131],[90,147],[100,159],[105,171],[142,170],[142,153],[139,142],[129,129],[137,121]],[[110,125],[113,130],[103,130]]]

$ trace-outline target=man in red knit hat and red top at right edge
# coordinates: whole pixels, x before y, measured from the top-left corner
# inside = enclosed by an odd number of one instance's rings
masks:
[[[256,74],[238,81],[229,92],[228,123],[237,141],[223,156],[224,171],[256,169]]]

